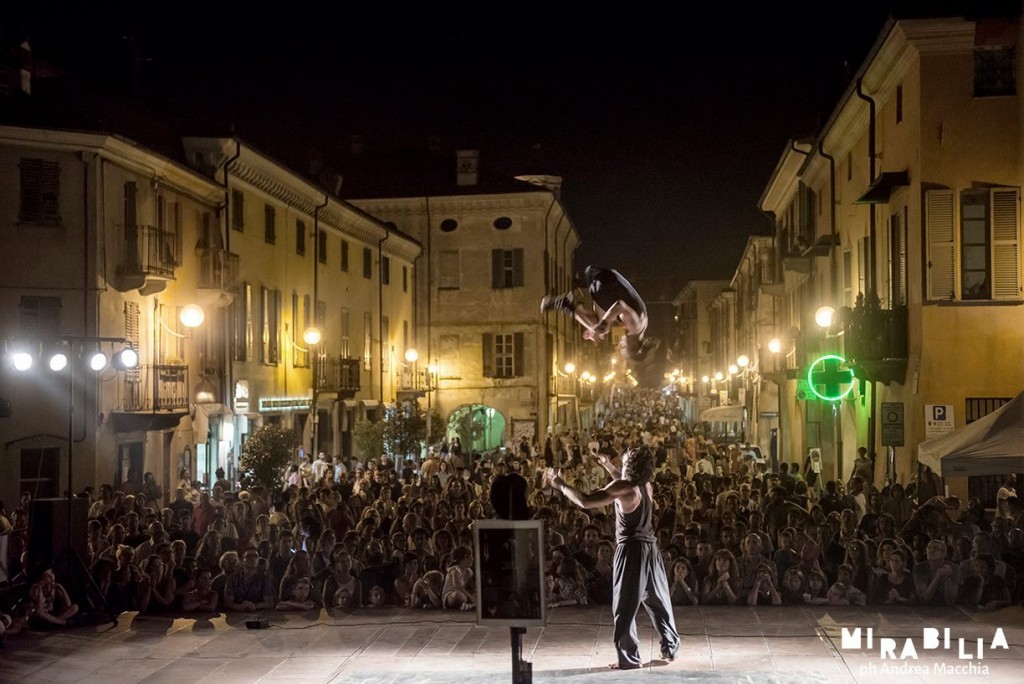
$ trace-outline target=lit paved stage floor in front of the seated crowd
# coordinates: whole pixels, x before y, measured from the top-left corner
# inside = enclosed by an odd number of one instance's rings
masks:
[[[408,608],[345,616],[269,614],[272,627],[247,630],[242,616],[140,617],[8,638],[0,682],[454,683],[511,682],[509,628],[476,627],[471,614]],[[1024,679],[1024,608],[698,607],[677,608],[680,657],[656,659],[657,640],[637,618],[645,667],[613,672],[611,610],[559,607],[522,637],[534,682],[1019,682]],[[860,647],[843,647],[842,628],[861,628]],[[867,628],[872,646],[867,647]],[[926,649],[926,629],[939,632]],[[950,631],[949,648],[942,629]],[[1001,629],[1008,648],[992,648]],[[896,656],[880,654],[895,639]],[[977,658],[982,639],[983,659]],[[918,659],[909,657],[907,639]],[[963,647],[959,639],[964,639]],[[996,643],[993,643],[996,640]],[[970,654],[973,659],[967,659]],[[654,659],[651,659],[654,658]]]

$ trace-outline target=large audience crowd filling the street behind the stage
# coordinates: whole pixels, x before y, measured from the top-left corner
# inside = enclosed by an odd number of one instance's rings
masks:
[[[655,528],[674,604],[964,605],[1024,599],[1024,515],[1008,475],[994,512],[938,494],[932,477],[877,488],[866,450],[849,480],[820,464],[720,443],[680,420],[675,398],[633,389],[590,432],[521,439],[478,454],[453,438],[397,466],[324,454],[272,490],[218,471],[207,490],[183,472],[169,497],[133,473],[90,498],[79,605],[51,564],[27,551],[31,495],[8,516],[4,633],[74,625],[85,614],[218,611],[318,614],[392,606],[472,610],[472,523],[496,516],[490,484],[518,473],[528,517],[547,535],[549,606],[610,604],[610,508],[581,510],[548,486],[549,466],[587,491],[607,483],[597,454],[654,451]]]

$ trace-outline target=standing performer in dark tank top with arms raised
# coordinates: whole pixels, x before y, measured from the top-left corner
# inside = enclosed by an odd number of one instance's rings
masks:
[[[612,503],[615,507],[611,613],[618,662],[609,667],[618,670],[640,667],[636,614],[641,602],[662,638],[662,658],[672,661],[679,653],[679,633],[651,520],[650,478],[654,472],[654,454],[647,446],[627,450],[623,454],[622,472],[604,454],[598,454],[597,458],[612,477],[611,482],[597,491],[577,491],[553,468],[549,468],[547,474],[552,485],[581,508],[599,508]]]

